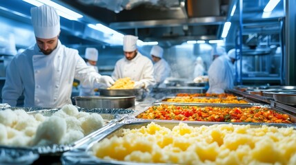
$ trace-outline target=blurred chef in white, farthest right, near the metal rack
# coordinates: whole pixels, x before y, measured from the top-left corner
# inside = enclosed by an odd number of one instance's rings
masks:
[[[230,50],[227,55],[219,56],[208,69],[210,88],[209,94],[223,94],[226,89],[234,86],[234,63],[237,61],[235,49]]]

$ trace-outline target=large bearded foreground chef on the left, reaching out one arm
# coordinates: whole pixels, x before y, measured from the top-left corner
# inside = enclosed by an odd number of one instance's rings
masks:
[[[2,89],[3,102],[15,106],[23,94],[25,107],[62,107],[72,104],[74,78],[90,86],[114,83],[110,76],[101,76],[86,65],[77,50],[61,44],[55,8],[31,8],[31,17],[37,43],[12,59]]]

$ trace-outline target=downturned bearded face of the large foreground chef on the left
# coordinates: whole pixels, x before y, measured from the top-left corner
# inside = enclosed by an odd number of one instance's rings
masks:
[[[52,39],[39,39],[36,37],[37,45],[45,55],[51,54],[57,48],[57,41],[59,41],[59,36]]]

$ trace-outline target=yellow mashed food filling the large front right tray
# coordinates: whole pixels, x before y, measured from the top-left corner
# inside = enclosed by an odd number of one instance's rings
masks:
[[[150,123],[98,142],[101,159],[168,164],[296,164],[293,127],[214,124],[173,129]]]

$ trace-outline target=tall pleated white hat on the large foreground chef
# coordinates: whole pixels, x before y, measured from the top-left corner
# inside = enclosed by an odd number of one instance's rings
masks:
[[[49,5],[31,8],[34,34],[40,39],[52,39],[59,35],[59,14]]]

